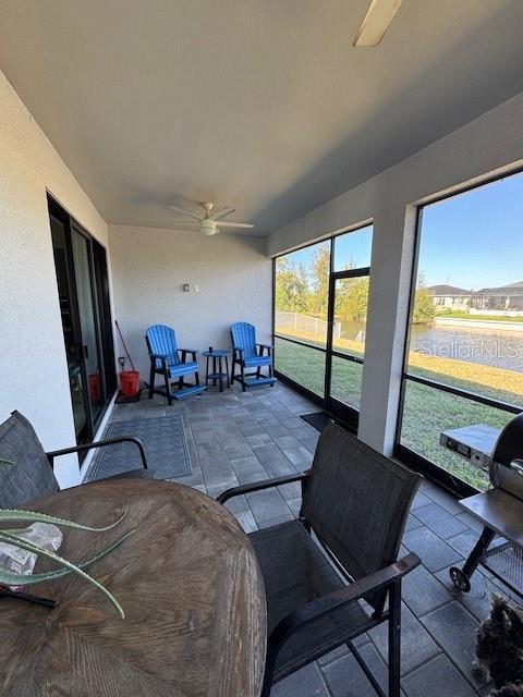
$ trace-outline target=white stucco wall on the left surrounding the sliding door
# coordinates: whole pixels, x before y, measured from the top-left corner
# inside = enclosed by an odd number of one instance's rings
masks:
[[[75,436],[46,188],[107,245],[105,221],[0,73],[0,421],[19,409],[51,450]],[[76,484],[76,458],[56,474]]]

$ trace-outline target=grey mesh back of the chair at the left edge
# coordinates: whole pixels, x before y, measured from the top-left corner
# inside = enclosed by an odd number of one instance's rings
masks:
[[[59,490],[35,429],[19,412],[0,425],[0,508],[14,509]]]

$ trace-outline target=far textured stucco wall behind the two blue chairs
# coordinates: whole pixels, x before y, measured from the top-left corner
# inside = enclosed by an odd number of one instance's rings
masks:
[[[260,340],[270,338],[272,261],[265,240],[126,225],[109,225],[109,240],[115,317],[143,379],[149,325],[173,327],[181,347],[198,351],[230,346],[234,321],[253,322]]]

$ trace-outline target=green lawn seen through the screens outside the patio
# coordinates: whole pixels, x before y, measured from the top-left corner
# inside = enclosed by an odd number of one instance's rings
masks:
[[[325,354],[323,352],[277,339],[276,368],[315,394],[324,396]],[[426,377],[437,379],[435,374]],[[331,390],[333,396],[358,408],[361,379],[360,364],[335,358]],[[470,383],[467,387],[471,389]],[[401,443],[473,487],[486,489],[488,476],[459,455],[441,448],[439,435],[442,430],[472,424],[488,424],[495,428],[502,428],[510,418],[512,415],[507,412],[409,381],[405,391]]]

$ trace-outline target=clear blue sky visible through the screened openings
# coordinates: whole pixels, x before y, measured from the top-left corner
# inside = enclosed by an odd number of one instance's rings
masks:
[[[311,268],[324,242],[289,255]],[[372,225],[336,239],[335,270],[370,262]],[[523,172],[424,206],[418,271],[425,285],[466,290],[523,281]]]

